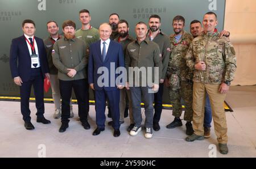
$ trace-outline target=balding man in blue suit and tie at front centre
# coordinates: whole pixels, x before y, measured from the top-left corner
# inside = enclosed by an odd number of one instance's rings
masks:
[[[123,88],[123,83],[118,83],[119,73],[115,73],[117,67],[125,66],[123,60],[122,45],[110,40],[112,28],[108,23],[100,26],[100,38],[90,45],[90,56],[88,64],[88,83],[95,90],[95,109],[97,129],[93,136],[105,130],[105,108],[106,99],[112,113],[114,137],[120,136],[119,124],[119,89]],[[112,72],[113,71],[113,72]],[[117,79],[117,83],[115,83]]]

